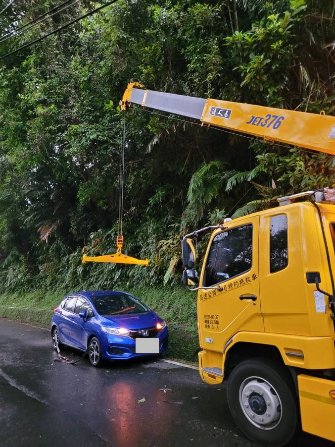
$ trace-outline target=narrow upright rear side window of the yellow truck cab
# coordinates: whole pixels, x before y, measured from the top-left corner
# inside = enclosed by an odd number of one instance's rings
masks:
[[[273,216],[270,219],[270,273],[285,269],[287,251],[287,216]]]

